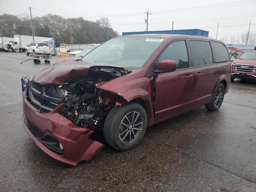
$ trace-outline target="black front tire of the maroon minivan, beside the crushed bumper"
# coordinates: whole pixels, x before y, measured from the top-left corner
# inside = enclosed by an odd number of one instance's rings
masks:
[[[125,116],[131,117],[130,120],[132,119],[132,115],[134,115],[134,112],[137,114],[139,114],[140,116],[137,118],[138,121],[142,122],[140,126],[141,130],[136,130],[133,127],[135,125],[135,121],[134,123],[132,123],[131,125],[131,130],[130,130],[130,126],[128,128],[128,126],[123,126],[121,125],[121,122],[124,122]],[[129,115],[130,114],[130,115]],[[136,119],[136,118],[135,118]],[[147,128],[147,123],[148,123],[148,117],[147,117],[147,113],[145,111],[145,109],[138,103],[135,102],[131,102],[128,103],[124,106],[118,106],[116,108],[112,108],[110,110],[110,112],[108,113],[105,123],[104,123],[104,137],[106,139],[106,142],[114,149],[119,150],[119,151],[126,151],[126,150],[130,150],[132,148],[134,148],[135,146],[137,146],[140,141],[142,140],[145,132],[146,132],[146,128]],[[138,124],[138,122],[137,122]],[[128,131],[130,133],[130,143],[124,143],[125,140],[121,140],[121,136],[119,135],[120,129],[123,128],[127,129],[126,131]],[[124,133],[125,131],[122,132]],[[132,136],[133,134],[133,136]],[[122,134],[121,134],[122,135]],[[136,135],[136,136],[135,136]],[[122,135],[122,137],[124,137],[124,135]],[[129,137],[129,136],[128,136]],[[131,142],[131,138],[134,139]],[[129,141],[127,141],[129,142]]]

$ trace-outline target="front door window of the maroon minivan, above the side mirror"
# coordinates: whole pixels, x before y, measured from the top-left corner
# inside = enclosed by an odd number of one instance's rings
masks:
[[[168,45],[159,57],[162,60],[174,60],[177,63],[177,70],[188,68],[188,51],[185,41],[176,41]]]

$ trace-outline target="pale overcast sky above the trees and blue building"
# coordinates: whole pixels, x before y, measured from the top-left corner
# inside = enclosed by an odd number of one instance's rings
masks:
[[[209,36],[216,38],[216,27],[220,22],[218,30],[218,39],[220,39],[226,35],[236,36],[238,33],[248,31],[251,20],[250,31],[256,32],[256,0],[0,0],[0,14],[19,15],[30,6],[64,17],[83,17],[92,21],[108,16],[112,28],[120,34],[146,30],[144,24],[146,14],[143,14],[146,10],[152,12],[148,18],[149,31],[170,30],[174,20],[174,30],[199,28],[209,31]],[[33,9],[32,15],[46,14],[38,10]]]

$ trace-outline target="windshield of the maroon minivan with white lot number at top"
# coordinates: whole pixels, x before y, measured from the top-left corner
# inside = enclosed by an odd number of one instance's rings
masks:
[[[82,60],[141,68],[163,42],[164,38],[114,38],[98,46]]]

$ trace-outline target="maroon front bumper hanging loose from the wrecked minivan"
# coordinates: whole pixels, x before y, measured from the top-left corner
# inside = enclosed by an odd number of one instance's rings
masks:
[[[49,113],[41,114],[27,100],[27,90],[23,94],[22,125],[28,135],[36,142],[36,145],[46,154],[68,164],[76,166],[82,160],[90,160],[104,145],[92,140],[89,136],[94,132],[89,129],[80,128],[58,112],[65,104],[60,104]],[[63,153],[52,150],[42,140],[32,134],[26,121],[29,121],[40,132],[47,134],[62,144]]]

